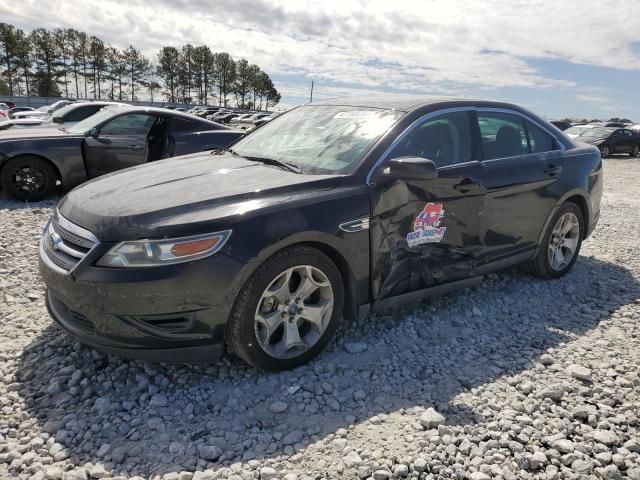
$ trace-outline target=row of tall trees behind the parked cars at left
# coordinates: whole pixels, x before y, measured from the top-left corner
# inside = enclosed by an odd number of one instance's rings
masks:
[[[0,95],[199,103],[257,110],[280,94],[258,65],[208,46],[162,47],[155,62],[73,28],[30,33],[0,23]]]

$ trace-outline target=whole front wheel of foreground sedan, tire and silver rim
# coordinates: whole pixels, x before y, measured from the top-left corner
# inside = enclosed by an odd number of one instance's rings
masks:
[[[315,357],[342,324],[343,283],[335,264],[307,246],[281,250],[238,294],[228,346],[264,370],[288,370]]]

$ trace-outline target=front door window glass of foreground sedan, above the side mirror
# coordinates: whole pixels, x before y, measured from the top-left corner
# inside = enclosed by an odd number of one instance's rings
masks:
[[[392,150],[389,158],[423,157],[438,167],[471,160],[467,112],[445,113],[417,126]]]

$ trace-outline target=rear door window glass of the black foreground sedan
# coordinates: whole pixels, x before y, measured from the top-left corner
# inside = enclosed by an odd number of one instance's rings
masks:
[[[510,113],[478,112],[485,159],[516,157],[529,153],[523,119]]]

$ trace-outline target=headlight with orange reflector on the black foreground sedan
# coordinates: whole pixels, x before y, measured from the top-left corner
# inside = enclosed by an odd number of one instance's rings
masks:
[[[156,267],[189,262],[219,251],[231,230],[163,240],[120,242],[99,261],[101,267]]]

